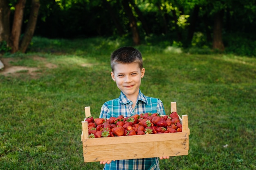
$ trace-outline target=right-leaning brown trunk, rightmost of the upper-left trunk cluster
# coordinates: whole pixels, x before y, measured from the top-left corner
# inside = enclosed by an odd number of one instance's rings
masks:
[[[36,20],[38,16],[38,11],[40,8],[40,0],[32,0],[31,3],[31,11],[29,16],[29,21],[27,23],[27,27],[25,30],[25,34],[22,38],[19,51],[25,53],[29,43],[33,37],[35,28],[36,28]]]

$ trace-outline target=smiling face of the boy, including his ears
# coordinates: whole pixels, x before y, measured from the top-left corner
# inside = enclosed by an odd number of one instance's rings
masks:
[[[137,98],[144,73],[145,68],[140,69],[138,63],[120,63],[114,66],[114,72],[111,72],[111,77],[126,97],[131,99]]]

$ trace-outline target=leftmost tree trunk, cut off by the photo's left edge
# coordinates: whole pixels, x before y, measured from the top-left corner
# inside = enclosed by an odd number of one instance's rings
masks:
[[[7,44],[10,35],[10,12],[7,0],[0,0],[0,42],[6,41]]]

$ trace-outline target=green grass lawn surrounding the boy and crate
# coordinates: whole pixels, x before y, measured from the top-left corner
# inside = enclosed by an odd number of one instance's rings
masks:
[[[104,102],[119,96],[109,57],[124,45],[122,39],[34,37],[27,54],[2,56],[39,69],[36,76],[0,75],[0,169],[103,169],[83,162],[83,107],[97,117]],[[189,155],[160,160],[160,169],[256,169],[256,59],[137,48],[146,68],[141,91],[160,98],[166,112],[176,101],[177,112],[189,116]]]

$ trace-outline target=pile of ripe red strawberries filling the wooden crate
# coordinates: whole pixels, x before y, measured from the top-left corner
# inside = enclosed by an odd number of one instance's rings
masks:
[[[89,138],[182,132],[182,124],[176,112],[164,116],[141,113],[124,118],[120,115],[109,119],[89,116],[85,121],[88,122]]]

